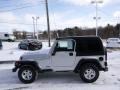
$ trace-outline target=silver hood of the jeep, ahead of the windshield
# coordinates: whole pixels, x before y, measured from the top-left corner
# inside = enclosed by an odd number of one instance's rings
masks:
[[[35,60],[44,60],[44,59],[48,59],[50,57],[50,48],[48,49],[42,49],[39,51],[33,51],[33,52],[28,52],[28,53],[24,53],[21,56],[21,60],[22,61],[35,61]]]

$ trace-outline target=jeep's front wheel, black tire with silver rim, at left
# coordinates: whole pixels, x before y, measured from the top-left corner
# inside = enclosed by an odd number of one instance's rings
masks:
[[[25,72],[29,71],[29,77],[25,76]],[[24,75],[24,76],[23,76]],[[27,75],[27,74],[26,74]],[[18,71],[18,78],[21,82],[25,84],[29,84],[35,81],[37,76],[37,71],[32,66],[23,66]],[[24,79],[26,78],[26,79]],[[30,79],[28,79],[30,78]]]

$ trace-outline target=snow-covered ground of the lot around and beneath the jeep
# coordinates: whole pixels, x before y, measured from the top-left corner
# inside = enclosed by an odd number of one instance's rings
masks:
[[[46,43],[43,43],[45,48]],[[18,42],[3,43],[0,60],[18,60],[27,52],[17,48]],[[0,90],[120,90],[120,50],[108,50],[109,71],[101,72],[99,79],[92,84],[82,82],[79,75],[72,72],[44,73],[32,84],[22,84],[17,73],[12,73],[14,64],[0,64]]]

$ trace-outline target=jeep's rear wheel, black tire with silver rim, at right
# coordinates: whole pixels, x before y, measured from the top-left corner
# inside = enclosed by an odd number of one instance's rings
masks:
[[[80,78],[86,83],[95,82],[99,77],[99,69],[92,63],[84,64],[80,69]]]

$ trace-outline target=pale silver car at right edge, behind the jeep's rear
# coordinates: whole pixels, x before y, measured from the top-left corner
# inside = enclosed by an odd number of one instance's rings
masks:
[[[107,48],[120,48],[120,38],[108,38]]]

